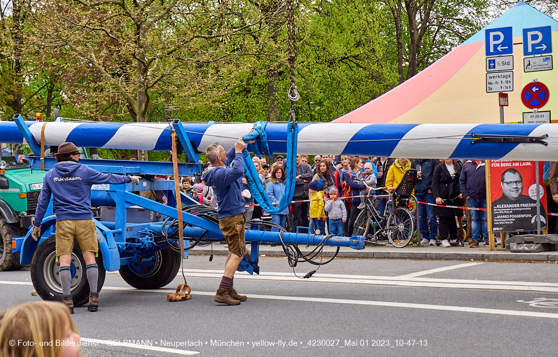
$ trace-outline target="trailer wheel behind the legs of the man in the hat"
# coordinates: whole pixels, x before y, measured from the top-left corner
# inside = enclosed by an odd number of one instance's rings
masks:
[[[85,260],[78,241],[74,241],[74,251],[72,252],[72,264],[75,273],[72,278],[71,295],[74,306],[80,306],[89,302],[89,282],[85,273]],[[103,266],[103,257],[99,250],[97,266],[99,267],[99,280],[97,281],[97,290],[100,291],[104,284],[105,269]],[[58,267],[60,262],[56,262],[56,239],[53,235],[47,238],[33,255],[31,260],[31,281],[42,300],[60,301],[62,298],[62,286],[58,277]],[[74,272],[74,269],[72,269]],[[81,274],[81,273],[83,274]]]

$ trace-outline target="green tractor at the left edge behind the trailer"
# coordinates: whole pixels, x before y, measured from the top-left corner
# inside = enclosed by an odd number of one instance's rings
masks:
[[[2,145],[0,155],[0,271],[21,268],[20,253],[12,253],[12,238],[25,235],[32,224],[46,175],[31,170],[25,155],[11,155],[12,149]]]

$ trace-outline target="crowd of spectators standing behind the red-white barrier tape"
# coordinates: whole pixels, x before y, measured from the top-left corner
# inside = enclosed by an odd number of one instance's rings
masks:
[[[286,189],[286,164],[282,155],[267,162],[265,157],[254,156],[252,161],[258,172],[268,199],[281,201]],[[313,162],[312,162],[313,161]],[[558,163],[550,163],[550,175],[556,176]],[[204,164],[204,170],[209,163]],[[249,190],[246,177],[240,179],[242,195],[246,202],[246,218],[269,219],[272,230],[285,229],[296,232],[301,228],[315,234],[336,234],[350,237],[354,221],[365,208],[364,197],[371,191],[387,195],[395,190],[403,174],[409,168],[418,172],[414,195],[420,202],[437,205],[486,208],[486,182],[484,161],[481,160],[433,160],[366,156],[296,156],[295,189],[288,208],[269,214],[256,204]],[[552,176],[552,177],[554,177]],[[172,178],[172,177],[170,177]],[[158,177],[166,179],[166,177]],[[558,185],[551,180],[549,201],[558,202]],[[215,207],[213,189],[198,177],[181,177],[181,190],[200,204]],[[351,197],[344,199],[344,197]],[[163,197],[166,199],[166,197]],[[154,198],[161,200],[160,197]],[[387,199],[378,199],[378,211],[384,214]],[[469,240],[469,247],[488,245],[488,222],[486,211],[463,210],[426,204],[416,209],[417,228],[421,245],[450,247],[458,237]],[[461,233],[458,222],[466,216],[468,231]],[[251,225],[246,224],[250,229]],[[554,228],[554,225],[552,226]],[[438,241],[438,243],[436,243]],[[497,237],[497,244],[499,238]]]

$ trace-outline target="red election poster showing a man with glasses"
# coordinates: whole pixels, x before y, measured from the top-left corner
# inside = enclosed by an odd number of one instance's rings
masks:
[[[538,192],[541,228],[546,227],[546,186],[542,183],[539,163]],[[537,184],[535,161],[489,161],[491,231],[516,232],[537,230]]]

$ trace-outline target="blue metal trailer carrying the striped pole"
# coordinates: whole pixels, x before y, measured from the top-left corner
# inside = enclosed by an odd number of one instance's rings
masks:
[[[13,119],[35,155],[30,156],[30,167],[40,169],[41,146],[29,129],[32,123],[25,122],[21,115],[15,115]],[[94,136],[95,124],[89,125]],[[176,131],[189,160],[187,163],[178,163],[179,176],[199,175],[201,173],[200,152],[193,148],[181,122],[175,120],[168,125]],[[99,126],[100,131],[103,131],[104,124]],[[89,147],[95,147],[94,139],[89,138],[88,141],[84,143],[74,139],[74,143],[78,146],[88,144]],[[106,143],[103,145],[106,147]],[[50,170],[55,163],[54,158],[45,157],[45,170]],[[119,271],[124,281],[138,289],[156,289],[169,284],[176,277],[181,263],[181,247],[176,224],[178,210],[175,183],[171,180],[155,180],[153,176],[174,175],[172,163],[94,159],[80,159],[80,163],[100,172],[142,176],[140,184],[92,187],[92,205],[100,208],[100,213],[94,219],[100,248],[97,263],[99,267],[104,267],[99,269],[99,289],[103,286],[105,271]],[[137,194],[141,191],[162,191],[168,203],[164,205],[144,198]],[[181,200],[186,205],[182,209],[186,239],[184,258],[187,258],[189,249],[195,244],[210,244],[224,240],[218,222],[215,220],[214,209],[199,205],[184,194],[181,194]],[[30,237],[31,230],[28,230],[25,237],[18,237],[12,241],[12,251],[20,252],[21,264],[31,264],[33,286],[44,300],[60,300],[62,296],[55,252],[55,222],[56,215],[52,211],[51,201],[41,222],[39,241],[35,242]],[[285,247],[301,244],[318,247],[330,245],[364,248],[362,236],[324,237],[283,231],[271,232],[262,230],[261,225],[254,225],[254,229],[246,231],[246,242],[251,244],[251,252],[249,256],[244,257],[239,269],[249,273],[259,273],[258,253],[259,245],[262,243],[283,244]],[[74,304],[79,306],[88,301],[89,284],[86,281],[85,262],[78,244],[74,245],[71,261],[71,290]]]

